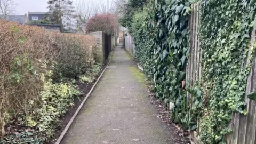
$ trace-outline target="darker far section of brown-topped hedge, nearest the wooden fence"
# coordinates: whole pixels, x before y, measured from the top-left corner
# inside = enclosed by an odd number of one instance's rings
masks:
[[[93,65],[96,43],[94,37],[76,34],[55,34],[54,37],[57,39],[55,46],[61,49],[59,56],[55,58],[58,63],[54,71],[55,80],[76,78]]]

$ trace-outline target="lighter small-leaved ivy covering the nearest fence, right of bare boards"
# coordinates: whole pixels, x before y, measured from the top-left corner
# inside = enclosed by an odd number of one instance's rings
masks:
[[[247,1],[204,1],[201,4],[200,42],[204,93],[200,136],[204,143],[224,142],[233,111],[244,110],[253,10]]]

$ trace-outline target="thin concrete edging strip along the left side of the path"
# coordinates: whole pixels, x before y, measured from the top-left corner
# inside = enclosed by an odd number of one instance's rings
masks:
[[[114,50],[114,49],[113,49]],[[90,94],[92,93],[94,87],[98,84],[98,82],[100,81],[102,75],[105,73],[111,58],[112,58],[112,54],[114,51],[111,51],[110,53],[110,57],[108,58],[109,61],[107,63],[107,66],[105,67],[105,69],[102,71],[102,73],[100,74],[99,78],[97,79],[97,81],[93,84],[91,90],[89,91],[89,93],[87,93],[86,97],[84,98],[84,100],[82,101],[82,103],[80,104],[80,106],[77,108],[75,114],[71,117],[71,119],[69,120],[67,126],[65,127],[65,129],[62,131],[60,137],[58,138],[58,140],[55,142],[55,144],[60,144],[60,142],[62,141],[62,139],[64,138],[64,136],[66,135],[66,133],[68,132],[69,127],[71,126],[71,124],[73,123],[74,119],[76,118],[77,114],[79,113],[79,111],[81,110],[81,108],[84,106],[85,101],[87,100],[87,98],[89,98]]]

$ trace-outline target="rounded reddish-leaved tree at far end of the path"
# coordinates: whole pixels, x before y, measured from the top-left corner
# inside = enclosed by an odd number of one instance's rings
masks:
[[[86,23],[86,32],[103,31],[114,35],[118,29],[118,21],[114,14],[102,13],[91,17]]]

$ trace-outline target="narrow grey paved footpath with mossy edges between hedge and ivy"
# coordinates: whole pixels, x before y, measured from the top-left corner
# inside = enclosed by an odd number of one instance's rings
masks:
[[[62,143],[174,143],[172,132],[157,116],[142,73],[117,46],[108,69]]]

